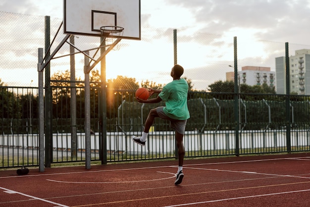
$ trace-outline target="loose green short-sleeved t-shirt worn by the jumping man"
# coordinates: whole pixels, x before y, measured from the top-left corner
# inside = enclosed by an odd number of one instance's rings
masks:
[[[188,83],[185,79],[173,80],[165,85],[159,93],[160,99],[166,102],[163,112],[170,118],[187,120],[190,112],[187,107]]]

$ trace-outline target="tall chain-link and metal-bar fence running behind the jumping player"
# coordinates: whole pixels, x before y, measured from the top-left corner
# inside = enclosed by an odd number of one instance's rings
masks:
[[[0,20],[2,167],[12,163],[12,166],[37,165],[37,64],[38,48],[45,48],[45,17],[0,12]],[[60,31],[54,38],[57,30],[62,30],[61,22],[61,19],[51,18],[51,52],[65,37]],[[141,86],[160,88],[172,80],[174,47],[177,47],[177,62],[185,68],[184,77],[191,89],[188,101],[191,119],[184,138],[186,156],[309,151],[310,90],[307,91],[308,76],[305,74],[310,74],[310,63],[307,63],[310,46],[289,44],[289,87],[293,94],[287,97],[285,43],[238,37],[239,93],[235,93],[232,82],[235,80],[234,37],[189,33],[176,28],[177,38],[174,39],[174,32],[171,28],[143,27],[141,41],[121,40],[119,50],[106,55],[108,136],[105,144],[111,161],[174,157],[173,132],[166,122],[155,122],[146,150],[130,142],[131,135],[142,131],[147,113],[154,106],[142,108],[134,100],[134,90]],[[81,51],[100,45],[98,37],[74,36],[71,41]],[[76,83],[72,87],[69,53],[69,44],[64,44],[51,61],[52,162],[85,158],[84,54],[74,55]],[[90,56],[96,59],[99,53],[94,50]],[[100,71],[100,64],[94,71]],[[98,116],[102,112],[99,107],[101,87],[96,83],[100,80],[98,75],[92,74],[91,83],[93,160],[102,160],[103,146],[102,117]],[[74,126],[70,111],[73,88],[77,95]],[[301,92],[304,94],[299,95]],[[71,146],[72,127],[76,127],[78,135],[75,148]],[[288,149],[291,144],[293,148]],[[240,145],[240,151],[236,145]],[[15,162],[14,159],[4,160],[4,157],[28,153],[32,155],[31,160],[29,157],[24,160],[24,156]]]

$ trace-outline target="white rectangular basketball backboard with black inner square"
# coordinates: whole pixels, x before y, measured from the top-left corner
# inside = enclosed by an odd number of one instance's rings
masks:
[[[141,40],[140,11],[140,0],[63,0],[63,33],[100,36],[100,27],[118,26],[120,38]]]

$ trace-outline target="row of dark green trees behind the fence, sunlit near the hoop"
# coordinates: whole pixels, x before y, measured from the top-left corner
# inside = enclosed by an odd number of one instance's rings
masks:
[[[53,132],[71,130],[71,90],[69,71],[55,73],[52,81],[52,126]],[[91,72],[91,128],[98,132],[102,125],[100,106],[102,105],[102,83],[97,70]],[[59,80],[57,80],[59,79]],[[189,86],[191,81],[187,80]],[[84,83],[76,81],[76,124],[80,132],[84,131],[85,91]],[[106,83],[106,122],[108,131],[142,131],[151,108],[158,104],[140,104],[135,100],[135,91],[139,87],[162,89],[163,85],[146,80],[139,85],[134,78],[117,76]],[[235,128],[234,83],[218,81],[211,84],[212,93],[189,90],[188,107],[191,118],[186,130],[233,130]],[[192,88],[192,87],[191,87]],[[292,114],[291,122],[310,122],[310,98],[308,96],[274,94],[273,88],[266,85],[248,86],[241,84],[238,94],[240,105],[240,123],[244,129],[275,128],[285,126],[287,113]],[[247,92],[247,93],[245,93]],[[28,93],[28,92],[27,92]],[[269,94],[268,94],[269,93]],[[154,95],[155,96],[155,95]],[[290,111],[286,101],[290,101]],[[31,104],[31,105],[30,105]],[[15,89],[0,86],[0,126],[1,133],[28,133],[29,115],[32,108],[32,131],[37,132],[38,100],[33,94],[18,95]],[[270,113],[269,113],[270,112]],[[11,126],[12,125],[12,126]],[[309,125],[309,124],[308,124]],[[171,130],[169,122],[155,119],[155,131]]]

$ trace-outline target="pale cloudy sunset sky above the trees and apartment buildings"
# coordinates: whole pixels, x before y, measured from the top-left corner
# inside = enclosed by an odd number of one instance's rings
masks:
[[[37,48],[44,48],[44,16],[51,16],[53,38],[62,20],[62,4],[63,0],[0,1],[1,10],[14,13],[8,19],[0,16],[1,22],[5,22],[0,27],[0,58],[5,60],[1,62],[1,71],[7,73],[20,67],[16,65],[22,65],[25,71],[36,71]],[[228,65],[233,64],[234,36],[238,42],[239,70],[246,65],[274,70],[274,58],[284,56],[285,42],[302,44],[290,44],[292,54],[310,48],[309,11],[310,0],[141,0],[142,41],[122,40],[121,49],[107,55],[107,76],[169,82],[173,29],[177,29],[178,63],[187,69],[186,77],[198,90],[225,80],[225,72],[231,71]],[[21,35],[16,37],[17,33]],[[60,33],[52,50],[64,37],[62,30]],[[99,46],[98,38],[81,36],[75,41],[81,50]],[[56,56],[66,53],[67,44]],[[68,58],[53,60],[52,72],[69,69],[68,62]],[[83,63],[84,56],[77,55],[77,76],[84,75]],[[28,79],[36,80],[36,76],[33,73]],[[2,81],[7,78],[3,76]]]

